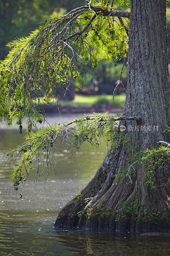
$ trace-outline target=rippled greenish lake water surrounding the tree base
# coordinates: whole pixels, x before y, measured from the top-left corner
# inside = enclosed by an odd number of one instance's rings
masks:
[[[76,115],[48,117],[48,122],[74,120]],[[17,127],[18,128],[18,127]],[[0,162],[5,151],[24,140],[16,129],[0,129]],[[62,149],[57,172],[51,172],[45,188],[44,177],[35,186],[29,176],[19,199],[19,190],[11,188],[9,175],[12,161],[0,165],[0,256],[169,256],[169,234],[92,234],[74,230],[57,232],[53,223],[61,208],[92,178],[107,153],[85,143],[74,158]]]

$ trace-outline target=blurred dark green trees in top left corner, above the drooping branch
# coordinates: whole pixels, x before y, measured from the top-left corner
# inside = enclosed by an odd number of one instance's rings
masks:
[[[53,12],[68,12],[83,4],[83,1],[54,0],[3,0],[0,2],[0,60],[4,60],[9,48],[5,45],[20,36],[27,36]],[[63,9],[64,8],[64,9]],[[44,17],[44,18],[43,18]]]

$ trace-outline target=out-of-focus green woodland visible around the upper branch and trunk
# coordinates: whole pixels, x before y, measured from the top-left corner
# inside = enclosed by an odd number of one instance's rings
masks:
[[[16,37],[28,36],[40,22],[54,12],[62,14],[85,5],[85,0],[0,0],[0,60],[4,60],[9,48],[5,46]],[[170,8],[167,7],[167,16],[170,17]],[[170,59],[170,22],[167,22],[168,58]],[[100,60],[94,73],[86,74],[80,68],[82,88],[91,87],[95,94],[103,92],[111,94],[118,83],[122,62],[114,67],[112,61]],[[122,82],[126,86],[127,65],[122,73]],[[78,82],[77,82],[78,83]],[[79,87],[79,84],[77,84]],[[110,90],[109,87],[112,89]],[[123,90],[120,89],[119,93]],[[91,94],[92,91],[89,91]],[[83,93],[83,90],[82,92]],[[86,93],[86,92],[85,92]]]

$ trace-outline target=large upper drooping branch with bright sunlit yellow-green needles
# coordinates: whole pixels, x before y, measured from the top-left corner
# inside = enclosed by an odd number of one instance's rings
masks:
[[[29,134],[45,120],[37,99],[40,105],[43,96],[48,104],[58,87],[67,94],[72,79],[79,79],[76,63],[90,72],[100,58],[116,63],[126,57],[129,14],[114,17],[115,7],[123,4],[126,1],[114,1],[114,6],[109,1],[87,2],[66,15],[51,16],[29,36],[9,43],[10,52],[0,63],[0,121],[21,125],[27,118]]]

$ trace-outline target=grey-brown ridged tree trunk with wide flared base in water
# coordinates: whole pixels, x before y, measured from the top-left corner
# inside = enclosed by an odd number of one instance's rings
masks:
[[[167,140],[164,131],[170,126],[166,0],[131,1],[127,82],[123,115],[138,116],[142,121],[123,123],[127,127],[125,134],[136,152],[156,147],[158,141]],[[135,125],[139,129],[129,129]],[[158,131],[149,129],[158,125]],[[142,129],[144,126],[146,130]],[[115,155],[111,149],[108,151],[92,180],[81,191],[81,197],[64,206],[54,228],[170,230],[170,186],[161,186],[162,179],[168,179],[169,169],[165,168],[162,178],[159,173],[155,177],[158,185],[155,190],[145,184],[144,166],[136,170],[132,183],[127,177],[117,184],[114,180],[128,163],[129,154],[124,145],[117,151]],[[92,199],[85,204],[88,197]]]

